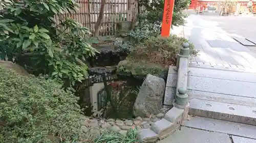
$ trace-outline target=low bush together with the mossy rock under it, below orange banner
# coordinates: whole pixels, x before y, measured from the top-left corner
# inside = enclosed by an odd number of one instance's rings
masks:
[[[145,76],[152,74],[166,78],[170,65],[176,64],[177,54],[187,39],[171,35],[169,37],[152,36],[136,44],[124,61],[117,65],[117,73]],[[197,54],[194,45],[189,43],[190,54]]]

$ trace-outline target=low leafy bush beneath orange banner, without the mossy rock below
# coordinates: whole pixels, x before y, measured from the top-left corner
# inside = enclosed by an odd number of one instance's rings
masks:
[[[137,44],[130,57],[161,65],[172,65],[184,42],[188,42],[188,40],[176,35],[150,37],[144,43]],[[197,53],[193,44],[189,43],[189,48],[190,54]]]

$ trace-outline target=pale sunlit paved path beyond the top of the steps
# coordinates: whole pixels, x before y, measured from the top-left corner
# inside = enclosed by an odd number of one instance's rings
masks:
[[[201,15],[187,18],[184,36],[199,50],[199,55],[191,62],[245,68],[255,72],[256,54],[228,36],[219,24],[218,21],[205,20]]]

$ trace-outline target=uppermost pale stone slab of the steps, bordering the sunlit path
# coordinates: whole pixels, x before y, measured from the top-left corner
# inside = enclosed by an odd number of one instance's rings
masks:
[[[227,70],[220,71],[200,68],[189,68],[189,71],[190,72],[188,73],[188,76],[198,76],[256,83],[256,73],[236,72]]]

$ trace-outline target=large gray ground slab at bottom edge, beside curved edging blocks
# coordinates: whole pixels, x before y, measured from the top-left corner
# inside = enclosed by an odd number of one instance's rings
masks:
[[[227,134],[181,127],[158,143],[231,143]]]

